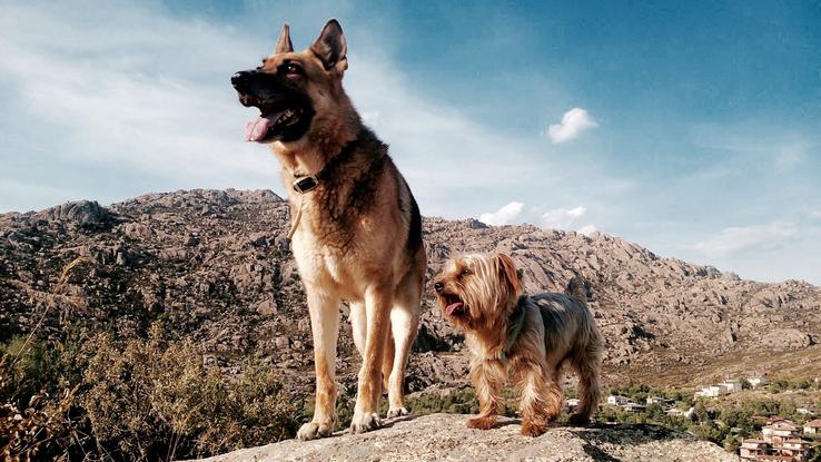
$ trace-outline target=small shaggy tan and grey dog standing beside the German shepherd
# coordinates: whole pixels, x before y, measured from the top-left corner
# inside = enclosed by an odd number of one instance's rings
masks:
[[[571,423],[590,421],[601,393],[603,342],[581,276],[571,281],[570,295],[527,296],[511,257],[466,255],[446,264],[434,288],[445,315],[465,331],[471,348],[471,381],[481,413],[468,426],[487,430],[496,423],[510,372],[522,394],[522,434],[541,435],[562,412],[558,380],[564,364],[578,373],[580,381],[581,402]]]

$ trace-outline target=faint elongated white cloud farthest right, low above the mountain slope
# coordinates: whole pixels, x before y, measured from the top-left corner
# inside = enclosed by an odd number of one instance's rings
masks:
[[[769,225],[730,227],[696,243],[692,248],[708,256],[725,256],[749,249],[778,248],[798,237],[799,229],[794,224],[774,222]]]

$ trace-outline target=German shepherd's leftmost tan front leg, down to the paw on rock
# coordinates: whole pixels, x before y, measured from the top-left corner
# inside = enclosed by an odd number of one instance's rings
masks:
[[[336,410],[336,341],[339,334],[339,298],[306,285],[310,330],[314,334],[316,403],[314,419],[304,424],[297,436],[314,440],[330,436]]]

